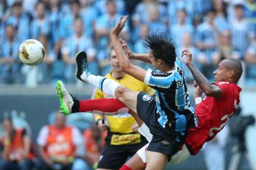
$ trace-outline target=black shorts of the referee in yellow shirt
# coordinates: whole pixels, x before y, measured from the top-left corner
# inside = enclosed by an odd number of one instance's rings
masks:
[[[97,168],[120,169],[122,165],[145,145],[144,142],[130,145],[106,144],[102,150]]]

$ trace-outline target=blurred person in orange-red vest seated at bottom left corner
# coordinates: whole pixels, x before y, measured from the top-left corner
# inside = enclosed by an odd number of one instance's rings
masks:
[[[3,137],[0,148],[3,148],[0,169],[4,170],[30,170],[33,168],[34,154],[31,139],[25,129],[15,129],[10,118],[3,120]]]

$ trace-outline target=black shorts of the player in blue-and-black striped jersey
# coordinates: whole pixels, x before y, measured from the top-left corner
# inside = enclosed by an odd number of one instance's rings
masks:
[[[176,135],[173,134],[173,130],[170,127],[161,127],[160,123],[158,123],[158,115],[156,115],[156,101],[148,93],[141,92],[138,94],[137,113],[153,135],[147,150],[166,154],[170,161],[173,154],[178,152],[185,143],[187,132]]]

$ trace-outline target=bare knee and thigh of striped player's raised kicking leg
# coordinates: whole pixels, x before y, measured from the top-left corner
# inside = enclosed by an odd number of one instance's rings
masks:
[[[119,86],[115,91],[115,97],[124,103],[127,108],[130,108],[134,113],[137,113],[137,95],[139,91],[131,91],[124,86]]]

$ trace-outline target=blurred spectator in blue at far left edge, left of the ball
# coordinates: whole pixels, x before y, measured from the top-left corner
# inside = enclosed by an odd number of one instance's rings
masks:
[[[21,82],[18,48],[20,40],[16,37],[13,25],[5,26],[6,39],[0,45],[0,81],[2,83]]]

